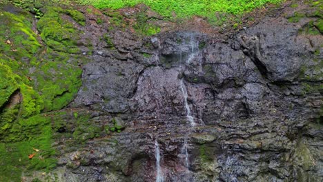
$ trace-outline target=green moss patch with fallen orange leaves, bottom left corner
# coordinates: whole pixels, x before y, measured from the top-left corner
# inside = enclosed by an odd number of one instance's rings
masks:
[[[0,143],[0,181],[21,181],[21,172],[55,168],[50,118],[37,115],[20,119],[11,130],[12,134]],[[28,159],[29,154],[35,156]]]

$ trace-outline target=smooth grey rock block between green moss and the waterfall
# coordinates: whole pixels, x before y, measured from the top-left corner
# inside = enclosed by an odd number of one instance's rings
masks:
[[[133,61],[98,57],[84,66],[84,81],[75,103],[110,113],[126,112],[130,108],[128,99],[133,97],[143,69],[143,65]]]

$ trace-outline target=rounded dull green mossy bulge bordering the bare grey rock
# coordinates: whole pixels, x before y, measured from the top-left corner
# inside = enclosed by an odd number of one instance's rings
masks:
[[[81,87],[82,70],[77,66],[83,58],[48,49],[46,61],[35,62],[37,72],[30,74],[34,88],[39,90],[44,111],[59,110],[74,99]]]

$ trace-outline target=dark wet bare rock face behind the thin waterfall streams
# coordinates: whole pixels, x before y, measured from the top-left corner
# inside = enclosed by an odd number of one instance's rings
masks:
[[[305,24],[267,18],[218,43],[179,32],[137,46],[115,34],[118,52],[92,56],[70,107],[103,126],[117,116],[126,129],[63,150],[55,172],[62,181],[155,181],[157,140],[164,181],[322,181],[322,70],[313,70],[322,54],[298,34]]]

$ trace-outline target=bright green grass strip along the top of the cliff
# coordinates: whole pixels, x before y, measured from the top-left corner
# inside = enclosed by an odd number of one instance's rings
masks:
[[[185,18],[199,15],[201,17],[215,17],[215,12],[242,14],[260,8],[266,3],[280,3],[283,0],[76,0],[81,4],[95,6],[95,8],[119,9],[132,7],[144,3],[152,10],[166,18]]]

